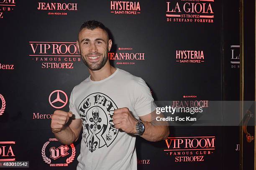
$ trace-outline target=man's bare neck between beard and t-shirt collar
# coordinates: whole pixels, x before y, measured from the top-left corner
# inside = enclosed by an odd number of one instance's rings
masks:
[[[100,70],[93,71],[89,69],[89,72],[92,81],[100,81],[112,75],[115,70],[115,67],[112,67],[110,64],[106,63]]]

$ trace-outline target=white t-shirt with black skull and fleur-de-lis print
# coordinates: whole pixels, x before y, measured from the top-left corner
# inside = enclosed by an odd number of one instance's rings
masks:
[[[83,121],[77,170],[137,170],[136,135],[116,129],[112,116],[122,107],[135,118],[147,115],[155,110],[153,101],[141,77],[118,68],[104,80],[92,81],[89,76],[75,86],[69,110]]]

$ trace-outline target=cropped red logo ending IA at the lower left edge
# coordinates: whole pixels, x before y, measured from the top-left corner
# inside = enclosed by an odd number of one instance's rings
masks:
[[[0,161],[15,161],[13,145],[15,145],[14,141],[0,142]]]

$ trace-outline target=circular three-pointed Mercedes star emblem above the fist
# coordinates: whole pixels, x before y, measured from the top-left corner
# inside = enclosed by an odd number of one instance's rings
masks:
[[[52,107],[56,109],[65,107],[65,105],[67,105],[67,102],[68,102],[67,94],[62,90],[54,90],[49,95],[49,103]]]

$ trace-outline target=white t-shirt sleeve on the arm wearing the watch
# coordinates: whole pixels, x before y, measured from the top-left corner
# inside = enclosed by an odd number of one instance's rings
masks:
[[[148,115],[149,113],[156,110],[154,105],[154,99],[151,95],[149,87],[146,82],[139,77],[135,85],[135,103],[134,110],[138,116]]]

